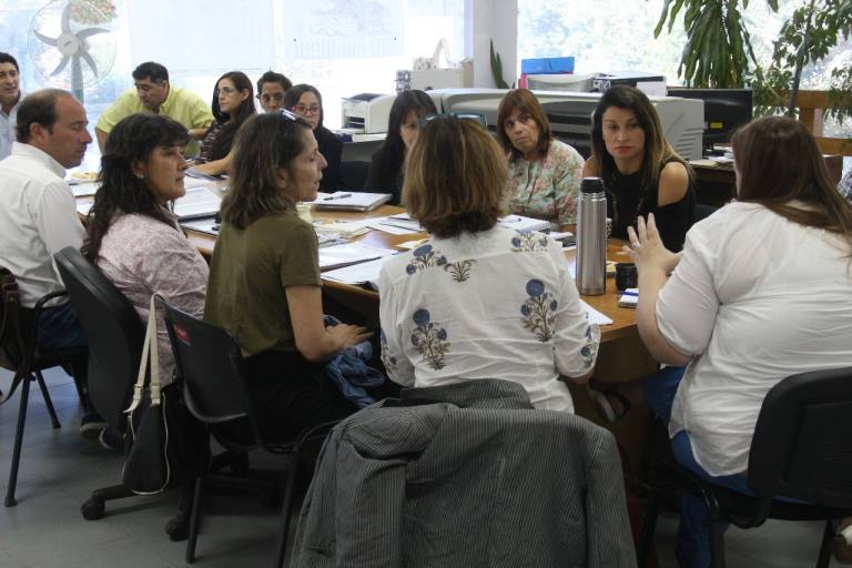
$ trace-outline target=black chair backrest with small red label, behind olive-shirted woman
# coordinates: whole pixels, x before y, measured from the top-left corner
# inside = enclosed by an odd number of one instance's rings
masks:
[[[239,355],[240,349],[233,337],[168,302],[159,306],[164,310],[175,368],[184,382],[184,398],[192,414],[207,424],[243,417],[251,422],[252,406],[243,377],[232,363],[232,355]]]

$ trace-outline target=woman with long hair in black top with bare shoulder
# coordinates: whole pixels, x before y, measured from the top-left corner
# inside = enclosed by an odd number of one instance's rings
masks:
[[[582,175],[604,179],[612,236],[627,239],[627,227],[638,215],[653,213],[666,248],[683,248],[694,220],[692,175],[666,140],[643,92],[619,85],[600,98],[592,116],[591,158]]]

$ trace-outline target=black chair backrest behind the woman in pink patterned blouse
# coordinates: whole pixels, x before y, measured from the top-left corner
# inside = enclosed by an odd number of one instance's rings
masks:
[[[124,408],[142,357],[144,327],[119,288],[74,247],[54,255],[89,339],[89,396],[106,423],[124,432]]]

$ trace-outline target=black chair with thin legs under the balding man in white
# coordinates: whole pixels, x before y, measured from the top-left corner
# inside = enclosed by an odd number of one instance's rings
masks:
[[[14,373],[12,384],[6,396],[0,396],[0,404],[7,402],[20,385],[21,400],[18,407],[18,425],[14,430],[14,447],[12,449],[12,466],[9,470],[9,485],[6,489],[4,505],[14,507],[18,501],[14,490],[18,486],[18,468],[21,463],[21,445],[23,427],[27,423],[27,407],[30,399],[30,383],[38,383],[44,405],[53,428],[59,428],[59,418],[50,399],[48,387],[41,372],[60,365],[77,367],[73,372],[74,384],[84,403],[84,385],[81,381],[83,365],[88,353],[87,347],[44,351],[36,345],[36,322],[39,320],[44,305],[58,297],[64,297],[64,292],[53,292],[39,298],[36,307],[29,312],[21,306],[18,283],[14,275],[0,266],[0,367]],[[80,371],[78,371],[80,369]]]

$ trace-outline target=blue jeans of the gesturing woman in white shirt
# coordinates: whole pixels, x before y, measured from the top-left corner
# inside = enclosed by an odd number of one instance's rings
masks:
[[[671,405],[683,378],[686,367],[666,367],[641,382],[641,389],[651,409],[666,424],[671,418]],[[751,495],[746,483],[746,474],[712,476],[696,462],[692,444],[686,430],[679,432],[671,439],[671,449],[678,464],[688,468],[704,480]],[[678,558],[689,568],[710,566],[709,510],[698,497],[684,493],[680,505],[680,526],[676,550]],[[724,532],[727,523],[719,523],[718,529]]]

